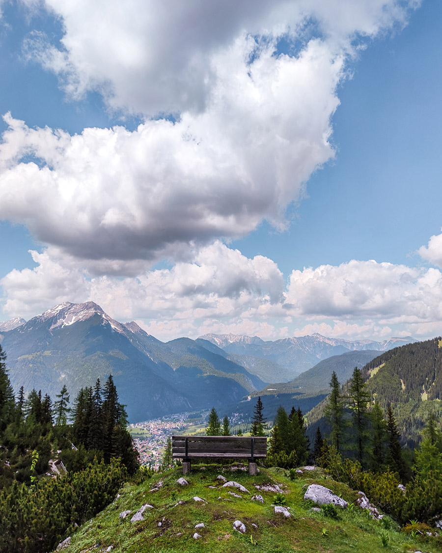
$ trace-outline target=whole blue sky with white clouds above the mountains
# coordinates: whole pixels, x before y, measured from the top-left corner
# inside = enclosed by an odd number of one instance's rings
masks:
[[[442,335],[440,0],[0,0],[0,321]]]

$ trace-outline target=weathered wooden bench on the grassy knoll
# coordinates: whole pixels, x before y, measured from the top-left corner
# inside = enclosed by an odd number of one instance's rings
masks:
[[[249,473],[256,474],[256,459],[267,455],[267,438],[253,436],[172,436],[172,458],[183,460],[183,474],[196,458],[249,460]]]

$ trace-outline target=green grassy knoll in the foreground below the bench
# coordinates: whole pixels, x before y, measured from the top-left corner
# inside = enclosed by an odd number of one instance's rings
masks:
[[[345,484],[334,482],[319,471],[306,472],[291,481],[283,469],[261,469],[257,476],[225,469],[223,474],[227,479],[243,484],[251,492],[239,492],[242,498],[228,493],[238,492],[236,489],[220,489],[222,482],[216,479],[220,472],[221,467],[216,465],[208,465],[207,468],[195,466],[187,475],[190,485],[185,487],[176,483],[182,476],[180,469],[156,474],[138,486],[126,484],[118,499],[73,534],[66,551],[98,553],[112,546],[113,553],[442,552],[439,538],[425,537],[420,541],[396,530],[385,530],[380,522],[373,521],[357,507],[340,510],[338,519],[329,518],[322,512],[312,512],[309,510],[312,503],[303,499],[309,483],[323,484],[349,502],[356,498],[356,493]],[[151,492],[160,479],[164,481],[164,486],[159,491]],[[278,483],[285,489],[287,505],[291,507],[290,519],[274,513],[271,506],[274,493],[255,489],[254,484],[264,483]],[[251,501],[254,493],[262,494],[264,504]],[[207,503],[194,502],[194,495]],[[177,505],[179,500],[185,503]],[[145,512],[143,521],[131,523],[130,517],[145,503],[154,505],[154,509]],[[129,509],[132,513],[120,519],[119,513]],[[246,525],[245,535],[233,530],[233,522],[237,519]],[[197,531],[194,526],[201,522],[206,528],[198,530],[202,538],[195,540],[192,538]],[[257,528],[252,527],[252,523]],[[381,535],[388,538],[387,547],[383,547]]]

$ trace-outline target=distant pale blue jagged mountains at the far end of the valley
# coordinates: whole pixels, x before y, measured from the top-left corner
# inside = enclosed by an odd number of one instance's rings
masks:
[[[204,340],[211,341],[228,353],[246,354],[255,357],[265,357],[286,368],[291,378],[307,371],[318,361],[322,361],[334,355],[340,355],[348,351],[374,349],[385,351],[396,346],[402,346],[409,342],[415,342],[414,338],[391,338],[383,342],[371,340],[341,340],[340,338],[327,338],[318,333],[312,336],[299,336],[284,338],[283,340],[264,341],[257,336],[241,336],[234,334],[207,334],[200,336]]]

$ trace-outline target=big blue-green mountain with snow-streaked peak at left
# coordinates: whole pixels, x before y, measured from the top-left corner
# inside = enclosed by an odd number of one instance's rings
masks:
[[[220,407],[264,385],[244,367],[183,340],[160,342],[93,302],[66,302],[0,334],[16,391],[23,385],[55,399],[66,384],[72,401],[81,387],[112,373],[131,421]]]

